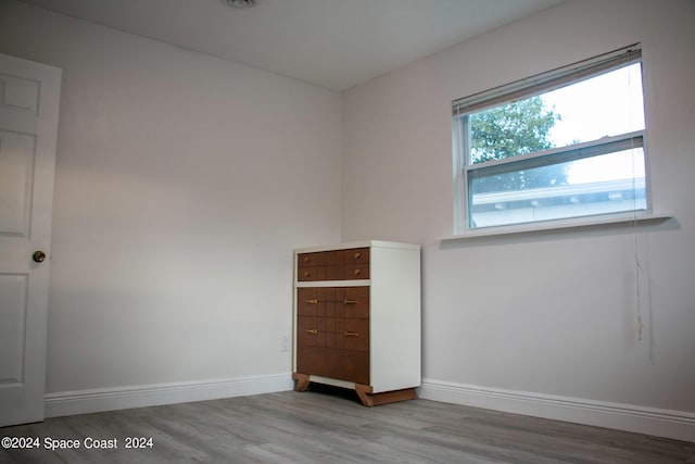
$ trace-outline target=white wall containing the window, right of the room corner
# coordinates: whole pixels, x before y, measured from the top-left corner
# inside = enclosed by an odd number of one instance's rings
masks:
[[[695,440],[694,20],[692,1],[570,0],[344,93],[342,239],[424,243],[425,396],[654,409]],[[439,241],[452,100],[637,41],[654,209],[674,220]]]

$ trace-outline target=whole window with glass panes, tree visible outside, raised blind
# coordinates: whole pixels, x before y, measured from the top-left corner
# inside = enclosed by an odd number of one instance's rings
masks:
[[[453,102],[457,230],[649,209],[633,45]]]

